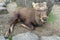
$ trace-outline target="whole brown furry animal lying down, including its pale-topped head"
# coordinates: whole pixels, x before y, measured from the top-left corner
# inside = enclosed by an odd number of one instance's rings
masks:
[[[30,29],[34,29],[35,26],[40,26],[46,22],[46,19],[47,19],[46,10],[48,9],[46,3],[43,2],[42,4],[40,4],[40,3],[33,2],[32,5],[33,5],[33,8],[20,7],[12,13],[12,18],[9,22],[10,28],[6,32],[6,37],[8,37],[9,34],[13,32],[14,26],[18,22],[22,22],[24,25],[26,25]]]

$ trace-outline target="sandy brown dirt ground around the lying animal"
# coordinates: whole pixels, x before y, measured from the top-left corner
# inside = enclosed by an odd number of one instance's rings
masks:
[[[32,31],[33,33],[36,33],[39,36],[60,36],[60,5],[55,4],[52,11],[56,15],[56,20],[53,23],[45,24],[43,27],[37,27]],[[0,35],[4,35],[9,28],[9,24],[7,24],[8,18],[9,17],[6,14],[0,15]],[[20,23],[18,23],[14,28],[13,35],[25,32],[29,32],[29,30],[23,28]]]

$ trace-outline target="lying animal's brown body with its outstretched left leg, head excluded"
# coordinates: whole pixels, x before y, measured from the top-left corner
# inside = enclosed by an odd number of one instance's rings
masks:
[[[34,10],[33,8],[18,8],[12,15],[9,22],[9,31],[6,32],[7,36],[12,33],[14,26],[19,21],[31,29],[34,29],[36,25],[40,25],[40,11]]]

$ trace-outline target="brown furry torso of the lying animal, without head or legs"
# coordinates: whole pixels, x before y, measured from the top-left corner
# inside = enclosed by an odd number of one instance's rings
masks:
[[[36,11],[33,8],[19,8],[13,14],[14,14],[14,16],[12,16],[12,19],[10,22],[12,22],[12,20],[14,21],[17,19],[17,21],[18,20],[20,22],[22,21],[22,23],[24,23],[28,27],[33,27],[32,24],[40,25],[40,23],[39,23],[40,17],[38,17],[38,16],[41,16],[40,11]]]

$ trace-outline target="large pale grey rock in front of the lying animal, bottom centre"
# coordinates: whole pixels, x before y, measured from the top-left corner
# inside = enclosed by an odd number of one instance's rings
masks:
[[[13,37],[13,40],[39,40],[39,37],[34,33],[22,33]]]

